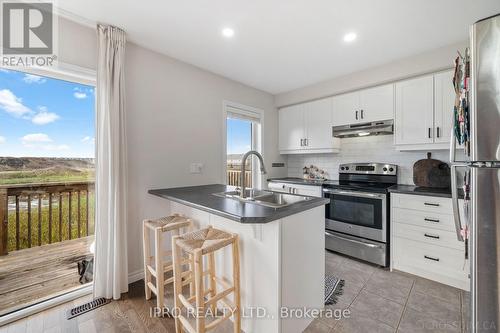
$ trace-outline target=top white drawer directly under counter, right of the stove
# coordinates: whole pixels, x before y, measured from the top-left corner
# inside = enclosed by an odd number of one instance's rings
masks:
[[[393,207],[440,214],[453,214],[451,198],[393,193],[391,195],[391,202]]]

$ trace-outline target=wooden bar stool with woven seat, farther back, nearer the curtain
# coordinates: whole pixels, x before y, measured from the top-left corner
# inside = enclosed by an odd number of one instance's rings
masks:
[[[170,232],[172,236],[179,235],[182,228],[192,229],[192,221],[182,215],[174,214],[171,216],[161,217],[155,220],[143,221],[143,247],[144,247],[144,285],[146,299],[151,299],[151,292],[156,295],[156,306],[163,309],[165,305],[165,285],[174,282],[174,277],[165,279],[165,273],[173,271],[173,262],[164,257],[172,257],[172,251],[164,251],[162,249],[163,233]],[[150,231],[154,232],[155,250],[154,256],[151,255]],[[153,267],[154,259],[154,267]],[[184,258],[180,264],[191,264],[190,258]],[[182,278],[187,279],[190,271],[181,273]],[[151,277],[155,277],[156,285],[151,281]],[[189,282],[184,282],[186,285]],[[194,284],[190,284],[191,293],[194,290]]]

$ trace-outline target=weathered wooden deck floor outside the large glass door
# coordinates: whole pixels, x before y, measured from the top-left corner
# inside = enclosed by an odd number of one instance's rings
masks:
[[[0,256],[0,315],[81,286],[77,262],[91,258],[94,236]]]

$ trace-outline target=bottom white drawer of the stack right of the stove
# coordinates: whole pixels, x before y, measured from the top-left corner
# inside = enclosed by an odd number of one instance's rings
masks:
[[[394,237],[394,266],[413,266],[436,274],[465,275],[464,251]]]

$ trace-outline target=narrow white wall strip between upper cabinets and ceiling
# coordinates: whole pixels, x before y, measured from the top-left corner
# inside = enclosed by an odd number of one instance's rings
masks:
[[[395,41],[394,47],[398,47],[396,43],[397,41]],[[325,82],[281,93],[275,96],[275,104],[277,107],[282,107],[451,68],[457,56],[457,50],[463,51],[466,46],[467,42],[465,41],[448,45],[436,50],[397,60],[383,66],[332,78]],[[366,56],[369,57],[370,55],[367,54]],[[332,59],[332,61],[334,60]]]

